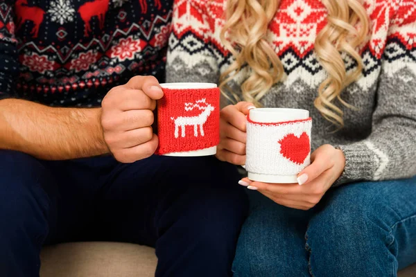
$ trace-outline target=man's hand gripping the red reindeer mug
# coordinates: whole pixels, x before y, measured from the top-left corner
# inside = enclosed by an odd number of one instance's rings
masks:
[[[153,110],[163,91],[156,78],[136,76],[111,89],[101,103],[105,143],[122,163],[132,163],[155,153],[159,140],[153,134]]]

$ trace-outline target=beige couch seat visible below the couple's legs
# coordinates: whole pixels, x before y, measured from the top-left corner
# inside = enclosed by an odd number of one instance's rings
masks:
[[[41,277],[155,276],[155,249],[118,242],[76,242],[45,247]],[[254,276],[253,276],[254,277]],[[399,273],[416,277],[416,265]]]

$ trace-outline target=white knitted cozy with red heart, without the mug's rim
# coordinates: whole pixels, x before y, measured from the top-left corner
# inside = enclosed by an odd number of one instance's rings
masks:
[[[311,163],[312,119],[282,123],[247,121],[248,172],[296,175]]]

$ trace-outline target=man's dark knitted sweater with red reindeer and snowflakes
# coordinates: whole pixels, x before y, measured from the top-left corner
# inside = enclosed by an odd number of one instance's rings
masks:
[[[134,75],[164,80],[172,0],[0,0],[0,98],[93,107]]]

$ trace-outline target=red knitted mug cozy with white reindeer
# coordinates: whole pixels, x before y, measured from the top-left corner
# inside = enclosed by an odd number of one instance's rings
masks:
[[[163,89],[156,154],[202,150],[220,141],[220,89]]]

